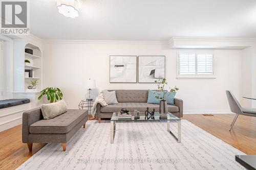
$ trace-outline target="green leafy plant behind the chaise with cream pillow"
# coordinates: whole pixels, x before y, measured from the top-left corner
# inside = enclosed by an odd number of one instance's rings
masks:
[[[40,100],[42,96],[46,95],[47,100],[50,101],[50,103],[57,102],[58,100],[62,100],[63,94],[59,88],[53,88],[53,87],[47,87],[44,90],[40,91],[40,95],[37,98]]]

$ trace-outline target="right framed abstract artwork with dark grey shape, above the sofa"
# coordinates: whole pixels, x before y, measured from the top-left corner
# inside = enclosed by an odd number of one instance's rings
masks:
[[[165,56],[138,56],[138,82],[155,83],[165,78]]]

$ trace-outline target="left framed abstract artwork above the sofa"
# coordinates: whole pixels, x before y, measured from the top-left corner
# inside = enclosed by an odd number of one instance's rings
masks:
[[[136,83],[137,56],[110,56],[110,83]]]

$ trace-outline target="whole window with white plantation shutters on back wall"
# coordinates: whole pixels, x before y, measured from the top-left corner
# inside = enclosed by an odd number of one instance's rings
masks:
[[[177,78],[214,78],[212,51],[179,51],[177,61]]]

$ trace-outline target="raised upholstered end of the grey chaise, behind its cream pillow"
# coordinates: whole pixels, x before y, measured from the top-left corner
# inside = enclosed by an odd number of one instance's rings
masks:
[[[27,110],[22,116],[22,141],[23,143],[29,142],[29,126],[33,123],[43,119],[41,108]]]

